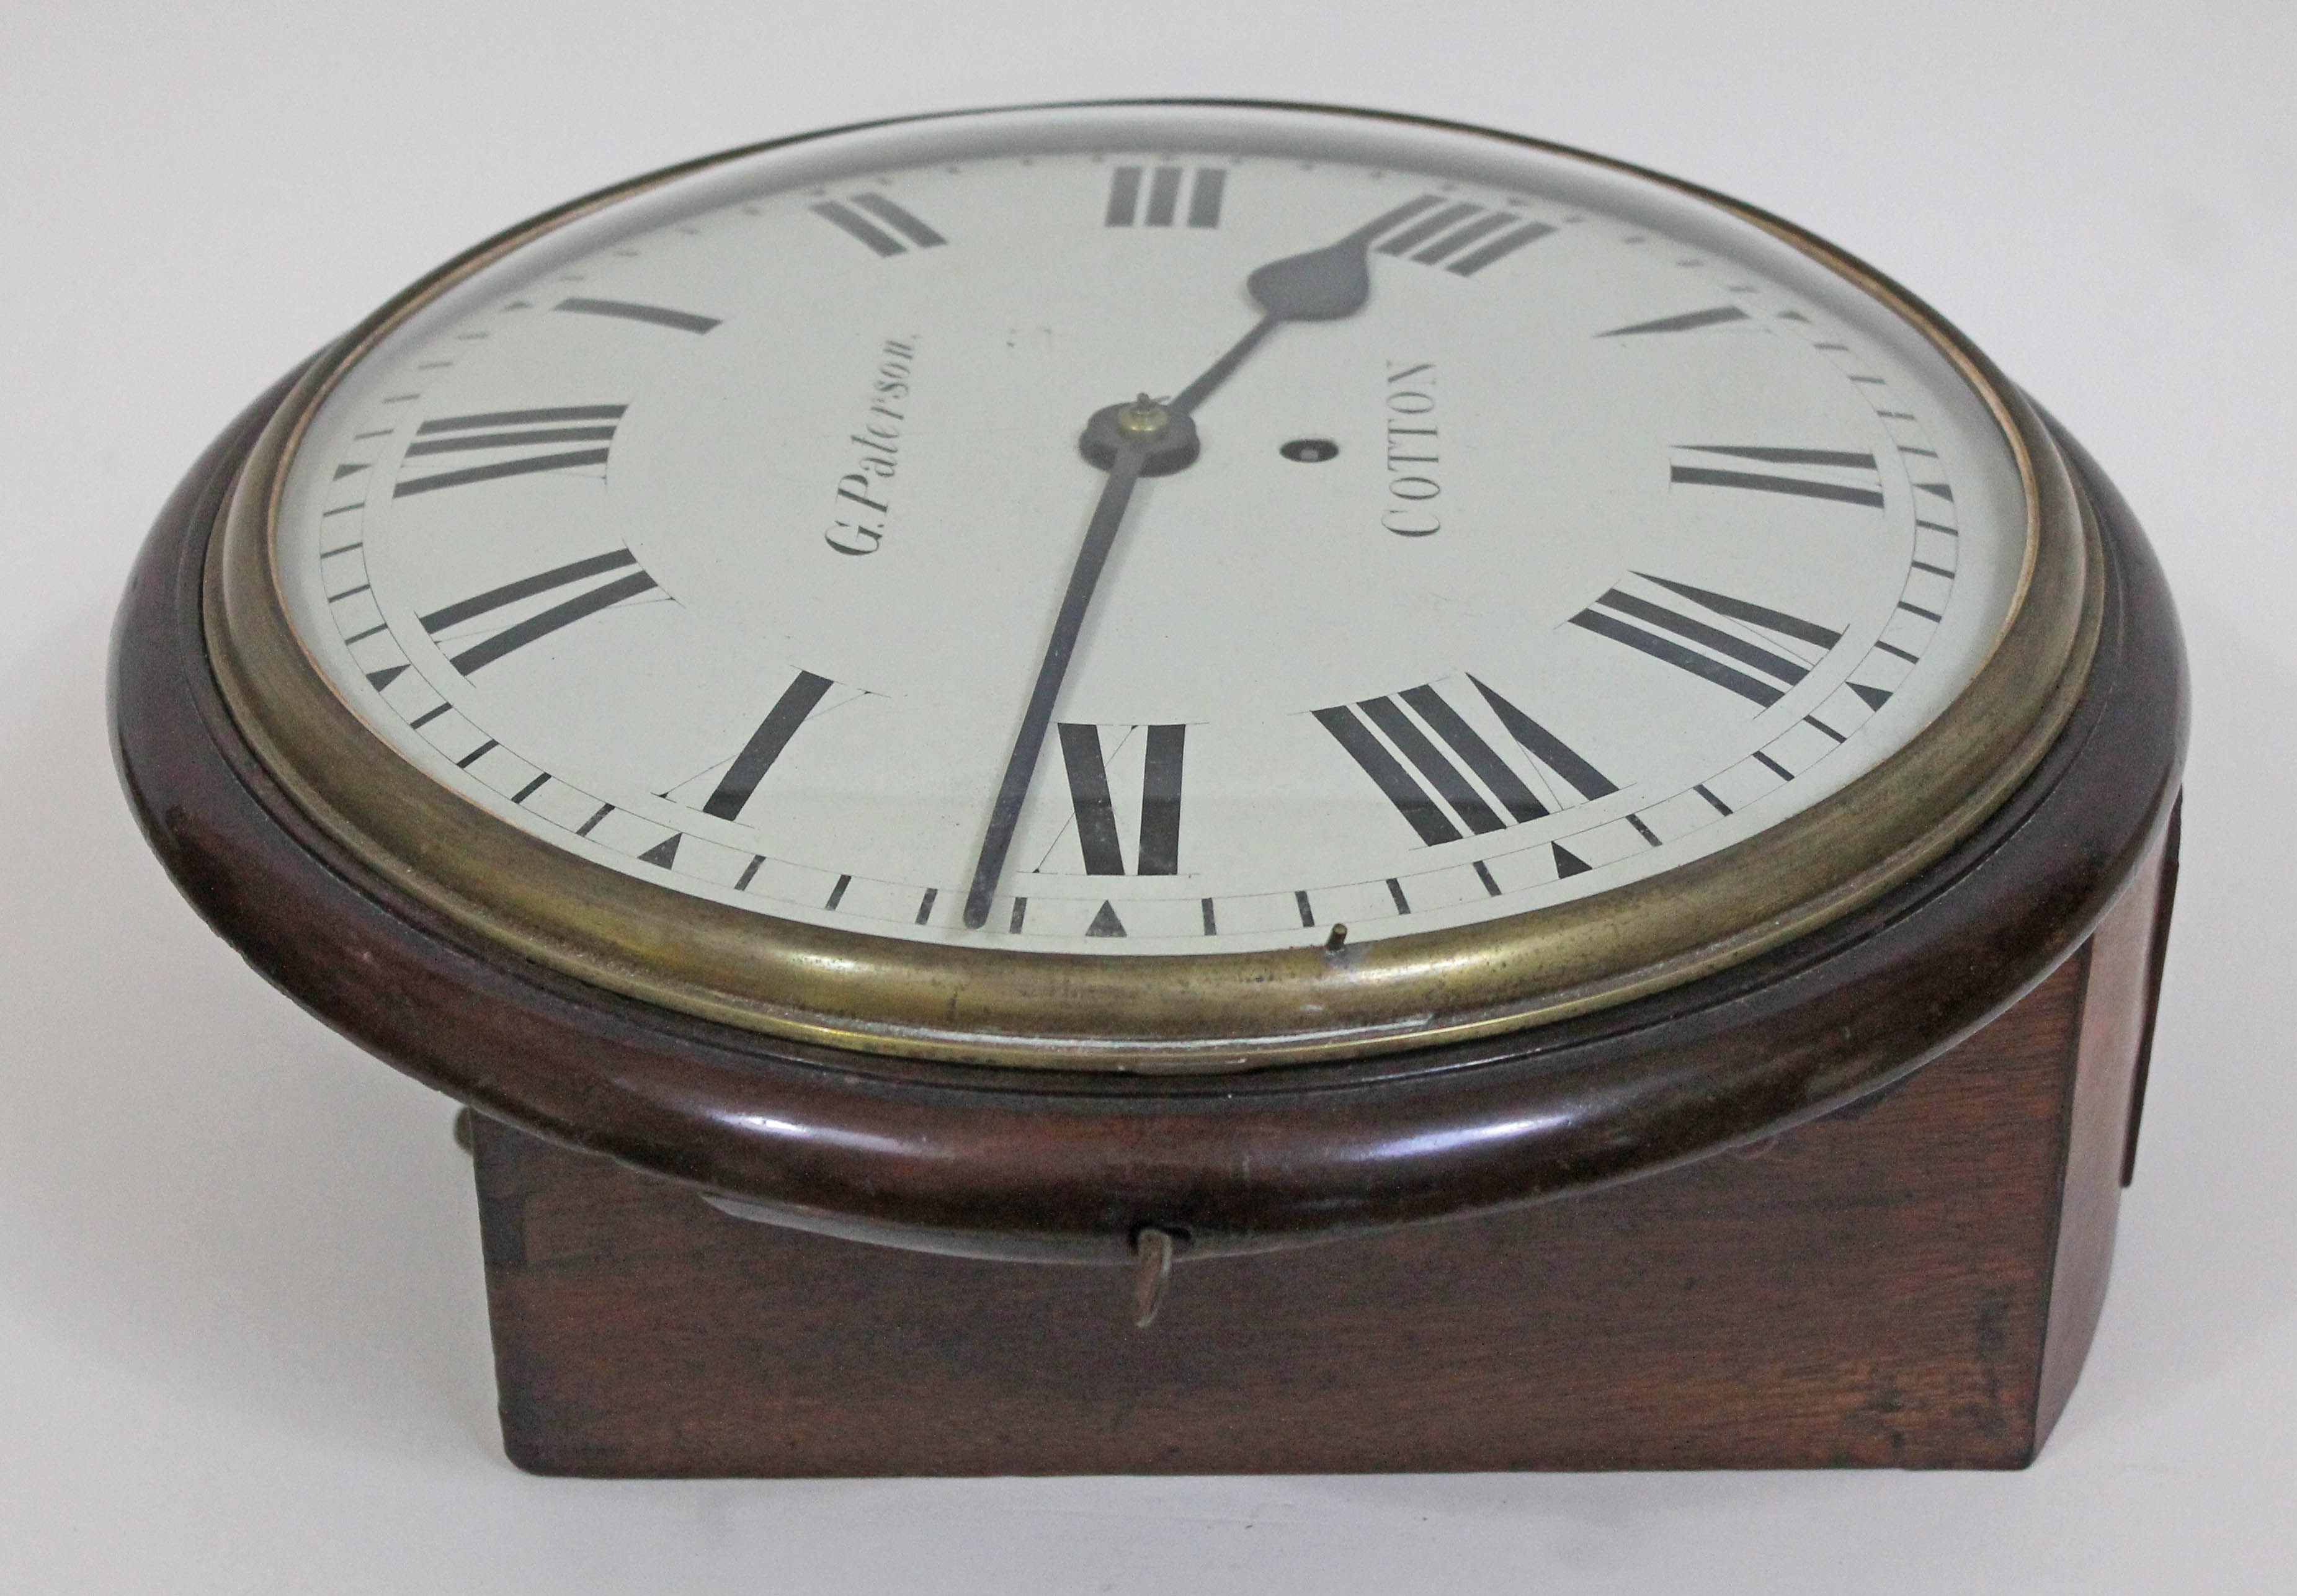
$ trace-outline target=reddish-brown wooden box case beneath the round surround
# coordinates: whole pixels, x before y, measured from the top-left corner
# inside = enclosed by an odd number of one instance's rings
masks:
[[[482,1118],[503,1442],[544,1474],[2019,1467],[2104,1300],[2173,870],[2171,829],[1895,1088],[1564,1201],[1183,1261],[1148,1330],[1123,1270],[751,1224]]]

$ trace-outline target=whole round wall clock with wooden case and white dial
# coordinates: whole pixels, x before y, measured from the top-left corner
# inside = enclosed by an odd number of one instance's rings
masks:
[[[1107,103],[441,266],[186,480],[115,721],[202,914],[478,1111],[531,1467],[2017,1463],[2184,673],[1840,250]]]

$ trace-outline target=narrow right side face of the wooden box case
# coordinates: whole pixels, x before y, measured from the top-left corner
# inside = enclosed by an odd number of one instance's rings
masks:
[[[2065,1148],[2065,1196],[2049,1288],[2049,1330],[2035,1412],[2040,1447],[2074,1394],[2074,1380],[2097,1334],[2113,1270],[2113,1226],[2136,1114],[2139,1063],[2152,1031],[2161,942],[2168,834],[2155,843],[2120,902],[2090,935],[2090,974],[2081,1004],[2081,1063]]]

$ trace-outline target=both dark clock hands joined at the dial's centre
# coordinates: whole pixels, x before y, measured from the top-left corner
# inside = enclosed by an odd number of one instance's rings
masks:
[[[1371,269],[1364,259],[1371,241],[1429,204],[1433,197],[1408,200],[1321,250],[1286,255],[1256,269],[1245,278],[1245,292],[1259,303],[1261,319],[1197,381],[1174,395],[1169,404],[1142,395],[1132,404],[1096,411],[1086,423],[1080,448],[1086,459],[1109,473],[1109,480],[1100,489],[1100,503],[1093,505],[1093,519],[1084,528],[1084,547],[1077,549],[1077,563],[1068,572],[1068,592],[1061,595],[1061,613],[1052,622],[1045,661],[1036,671],[1029,707],[1020,716],[1020,735],[1013,737],[1013,753],[1006,758],[1004,781],[990,806],[990,827],[981,838],[974,884],[965,893],[965,925],[969,930],[981,930],[990,919],[990,900],[997,896],[997,880],[1004,875],[1006,852],[1013,847],[1013,827],[1020,824],[1020,806],[1029,797],[1029,778],[1036,776],[1036,760],[1045,749],[1045,728],[1052,726],[1052,707],[1061,696],[1068,659],[1077,652],[1084,611],[1100,583],[1100,567],[1109,563],[1109,549],[1116,547],[1116,530],[1123,526],[1126,505],[1132,503],[1132,487],[1144,475],[1183,471],[1197,459],[1197,406],[1229,381],[1245,356],[1259,349],[1261,340],[1282,321],[1339,321],[1362,310],[1364,301],[1371,299]]]

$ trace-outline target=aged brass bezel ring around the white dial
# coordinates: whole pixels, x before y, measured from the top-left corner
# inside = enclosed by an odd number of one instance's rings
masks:
[[[324,831],[487,942],[648,1004],[877,1054],[1135,1072],[1330,1061],[1606,1008],[1817,930],[1969,836],[2065,726],[2102,615],[2097,533],[2072,475],[2035,409],[1969,340],[1833,246],[1619,161],[1461,131],[1633,172],[1771,232],[1916,326],[1987,402],[2017,457],[2026,572],[1994,652],[1907,746],[1769,831],[1573,902],[1337,953],[1077,955],[914,944],[689,898],[560,852],[423,776],[365,728],[289,627],[273,533],[303,429],[342,372],[478,269],[765,145],[632,179],[505,232],[409,287],[303,372],[209,544],[204,625],[223,696]]]

